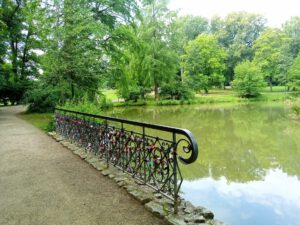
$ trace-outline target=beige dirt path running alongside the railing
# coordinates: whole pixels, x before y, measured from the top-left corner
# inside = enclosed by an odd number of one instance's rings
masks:
[[[0,225],[165,224],[112,180],[0,108]]]

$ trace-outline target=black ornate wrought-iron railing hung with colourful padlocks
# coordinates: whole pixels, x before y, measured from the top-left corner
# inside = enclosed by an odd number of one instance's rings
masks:
[[[58,134],[172,198],[176,213],[183,181],[178,159],[190,164],[198,156],[190,131],[60,108],[55,120]],[[150,135],[148,130],[168,133],[170,138]]]

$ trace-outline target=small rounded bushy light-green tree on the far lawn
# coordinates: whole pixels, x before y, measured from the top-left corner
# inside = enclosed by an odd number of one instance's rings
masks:
[[[260,67],[250,61],[238,64],[234,69],[233,89],[242,97],[256,97],[265,86]]]

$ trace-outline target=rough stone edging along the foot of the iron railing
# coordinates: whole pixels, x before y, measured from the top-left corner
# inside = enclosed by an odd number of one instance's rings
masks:
[[[123,173],[116,167],[107,164],[104,160],[85,149],[68,142],[65,138],[49,132],[49,136],[60,142],[64,147],[71,150],[75,155],[85,160],[96,170],[101,171],[103,176],[113,179],[119,187],[124,188],[136,200],[154,215],[164,219],[170,225],[225,225],[225,223],[214,219],[214,214],[203,207],[195,207],[190,202],[181,199],[178,214],[173,213],[173,202],[162,194],[145,185],[130,175]]]

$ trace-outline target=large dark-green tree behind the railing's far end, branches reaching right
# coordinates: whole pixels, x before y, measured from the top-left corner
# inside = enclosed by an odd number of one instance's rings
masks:
[[[121,51],[122,27],[131,20],[135,6],[132,0],[64,0],[41,5],[45,52],[41,82],[59,90],[59,101],[77,101],[86,95],[95,99],[109,62]]]

